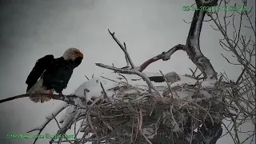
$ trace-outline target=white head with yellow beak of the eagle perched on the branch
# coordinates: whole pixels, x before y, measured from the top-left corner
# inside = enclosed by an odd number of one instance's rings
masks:
[[[77,48],[69,48],[65,51],[62,56],[65,60],[72,60],[74,61],[75,58],[83,58],[83,54]]]

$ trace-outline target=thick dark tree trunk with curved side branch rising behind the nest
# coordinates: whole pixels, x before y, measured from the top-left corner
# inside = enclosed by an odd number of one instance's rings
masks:
[[[203,1],[203,0],[197,0],[198,6],[216,6],[217,0],[211,0],[211,1]],[[138,71],[143,71],[146,69],[146,66],[149,66],[151,63],[158,61],[159,59],[162,59],[163,61],[167,61],[170,59],[170,56],[174,54],[177,50],[185,50],[188,54],[189,58],[194,62],[196,66],[198,66],[199,70],[202,71],[202,74],[205,78],[214,78],[217,79],[217,73],[214,70],[214,67],[211,65],[210,60],[206,58],[201,50],[199,45],[199,38],[202,30],[202,22],[203,18],[205,16],[205,11],[196,10],[194,12],[194,18],[191,22],[190,26],[190,32],[188,34],[188,38],[186,41],[186,46],[184,45],[177,45],[172,47],[167,52],[163,52],[162,54],[158,54],[154,58],[150,58],[146,62],[142,63],[141,66],[136,67]],[[110,33],[111,34],[111,33]],[[114,33],[111,34],[114,38]],[[114,38],[116,42],[118,42],[118,46],[121,46],[122,50],[125,50],[122,44],[117,40],[117,38]],[[127,59],[129,59],[128,57]],[[127,66],[126,66],[127,67]],[[123,68],[126,68],[123,67]]]

